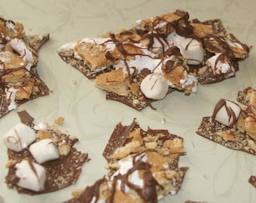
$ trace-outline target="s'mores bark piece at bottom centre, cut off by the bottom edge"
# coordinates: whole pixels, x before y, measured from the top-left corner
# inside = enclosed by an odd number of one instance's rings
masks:
[[[175,195],[187,167],[178,167],[184,155],[183,139],[167,130],[144,131],[136,120],[118,123],[103,156],[109,173],[92,186],[73,192],[66,202],[157,202]]]

